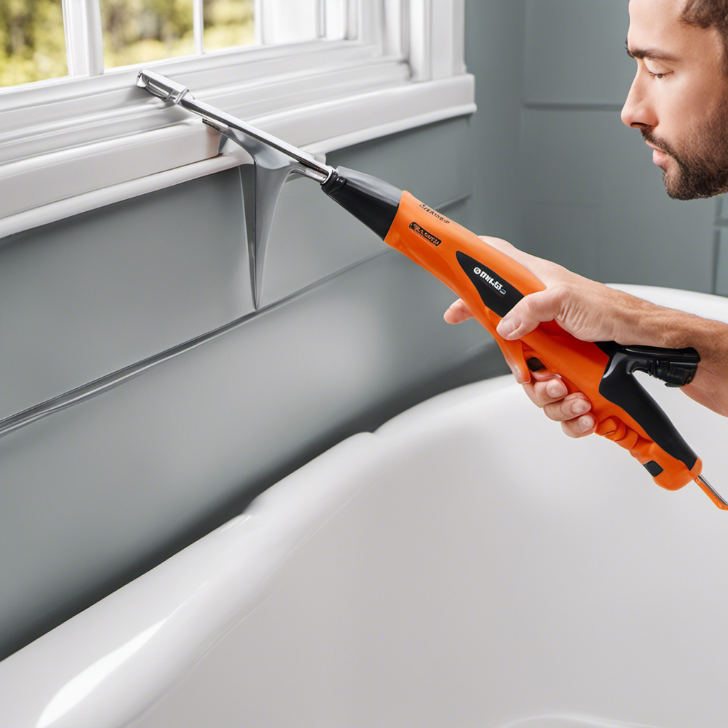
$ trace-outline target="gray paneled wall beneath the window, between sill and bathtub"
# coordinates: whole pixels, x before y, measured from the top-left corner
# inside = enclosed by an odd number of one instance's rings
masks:
[[[329,161],[469,225],[471,133],[454,119]],[[300,179],[282,192],[255,312],[241,179],[0,242],[0,419],[99,387],[0,436],[1,655],[340,440],[505,371],[477,324],[443,322],[447,288]]]

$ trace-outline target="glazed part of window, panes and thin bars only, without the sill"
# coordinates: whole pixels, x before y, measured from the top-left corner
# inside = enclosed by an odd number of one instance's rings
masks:
[[[0,87],[230,48],[355,39],[355,10],[348,0],[0,0]]]

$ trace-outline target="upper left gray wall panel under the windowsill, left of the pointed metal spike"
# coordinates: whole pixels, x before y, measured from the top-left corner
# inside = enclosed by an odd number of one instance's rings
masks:
[[[0,419],[253,310],[240,173],[0,240]]]

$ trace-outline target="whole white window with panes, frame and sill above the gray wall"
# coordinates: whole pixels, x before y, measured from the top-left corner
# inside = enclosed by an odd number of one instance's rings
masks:
[[[464,0],[0,0],[0,23],[0,237],[241,163],[143,66],[314,153],[475,110]]]

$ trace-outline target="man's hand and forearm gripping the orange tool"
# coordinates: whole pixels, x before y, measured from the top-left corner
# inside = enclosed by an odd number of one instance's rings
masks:
[[[662,306],[608,288],[572,273],[558,264],[530,256],[509,242],[493,237],[482,240],[514,258],[545,285],[516,304],[496,331],[513,341],[526,336],[539,323],[555,320],[561,328],[582,341],[616,341],[652,347],[695,347],[702,358],[692,384],[683,391],[701,404],[728,415],[728,326]],[[447,323],[472,317],[462,300],[445,313]],[[719,347],[716,338],[721,341]],[[711,342],[713,342],[711,344]],[[718,350],[720,349],[720,350]],[[532,381],[523,383],[531,401],[572,438],[590,435],[596,419],[589,414],[591,403],[582,392],[566,395],[558,372],[540,368]]]

